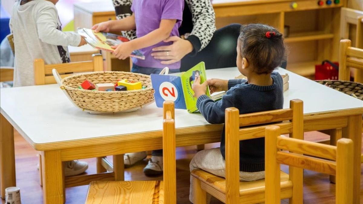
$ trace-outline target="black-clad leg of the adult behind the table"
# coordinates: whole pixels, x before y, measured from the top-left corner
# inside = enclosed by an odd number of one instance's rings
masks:
[[[201,61],[206,69],[235,67],[237,58],[237,40],[240,24],[231,24],[216,30],[209,44],[195,56],[181,59],[180,71],[184,72]]]

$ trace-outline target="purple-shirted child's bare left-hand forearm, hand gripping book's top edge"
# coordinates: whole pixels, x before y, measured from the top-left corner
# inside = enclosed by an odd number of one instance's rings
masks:
[[[136,29],[135,15],[132,14],[129,17],[120,20],[110,20],[95,24],[92,27],[96,33],[98,32],[113,32],[113,31],[123,31],[123,30],[134,30]]]

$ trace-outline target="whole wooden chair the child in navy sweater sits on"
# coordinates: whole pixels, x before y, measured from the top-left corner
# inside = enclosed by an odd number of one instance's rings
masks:
[[[281,127],[282,134],[303,139],[303,102],[294,99],[290,101],[289,109],[259,113],[240,115],[239,110],[234,107],[227,108],[225,112],[226,177],[222,178],[201,169],[193,170],[191,172],[194,179],[193,203],[205,204],[206,192],[227,204],[262,203],[265,201],[265,180],[240,181],[239,141],[264,137],[267,123],[275,123],[274,125]],[[289,180],[288,174],[278,172],[283,199],[291,198],[291,203],[302,203],[302,173],[301,169],[290,168],[290,178],[294,179]],[[293,194],[293,192],[299,193]]]

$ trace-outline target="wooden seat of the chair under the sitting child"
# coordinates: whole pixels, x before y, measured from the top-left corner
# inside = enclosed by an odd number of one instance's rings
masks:
[[[191,172],[201,181],[201,188],[225,202],[225,178],[216,176],[201,169]],[[281,199],[292,196],[293,184],[289,175],[281,171]],[[240,181],[240,203],[261,203],[265,201],[265,179],[257,181]]]

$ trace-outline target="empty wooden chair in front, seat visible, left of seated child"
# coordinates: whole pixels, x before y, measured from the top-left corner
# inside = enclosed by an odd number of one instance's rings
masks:
[[[174,102],[163,105],[163,181],[92,181],[86,204],[176,204]]]

